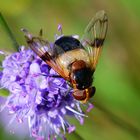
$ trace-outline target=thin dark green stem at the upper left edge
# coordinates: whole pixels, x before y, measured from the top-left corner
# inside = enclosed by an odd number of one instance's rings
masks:
[[[0,24],[2,25],[2,28],[5,30],[7,35],[9,36],[9,38],[13,44],[14,49],[16,49],[18,51],[19,45],[18,45],[12,31],[10,30],[8,24],[6,23],[2,13],[0,13]]]

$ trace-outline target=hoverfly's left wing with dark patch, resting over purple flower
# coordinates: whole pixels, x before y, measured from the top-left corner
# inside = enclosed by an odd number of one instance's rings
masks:
[[[23,29],[23,31],[29,47],[60,76],[69,81],[69,76],[64,74],[61,67],[57,65],[55,59],[53,58],[50,43],[39,37],[32,37],[32,35],[25,29]]]

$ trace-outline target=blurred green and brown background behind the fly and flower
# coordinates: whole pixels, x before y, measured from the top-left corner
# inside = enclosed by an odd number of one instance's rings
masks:
[[[109,28],[95,73],[94,109],[68,140],[140,139],[140,1],[139,0],[4,0],[0,11],[18,43],[25,45],[21,28],[54,40],[57,25],[66,35],[79,34],[99,10],[105,10]],[[0,25],[0,49],[13,51]],[[0,140],[20,140],[0,127]],[[29,139],[27,137],[27,139]]]

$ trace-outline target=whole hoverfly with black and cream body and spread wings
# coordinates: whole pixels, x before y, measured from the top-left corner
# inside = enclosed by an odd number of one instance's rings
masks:
[[[61,36],[53,47],[40,37],[25,32],[29,47],[74,89],[73,97],[86,103],[95,93],[93,74],[106,37],[108,18],[104,11],[96,13],[79,41]],[[47,46],[47,48],[46,48]]]

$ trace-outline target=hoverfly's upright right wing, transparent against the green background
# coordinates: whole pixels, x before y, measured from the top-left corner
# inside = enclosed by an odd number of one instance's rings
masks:
[[[99,11],[90,21],[81,39],[81,44],[87,50],[92,69],[96,68],[98,58],[106,37],[108,18],[105,11]]]

